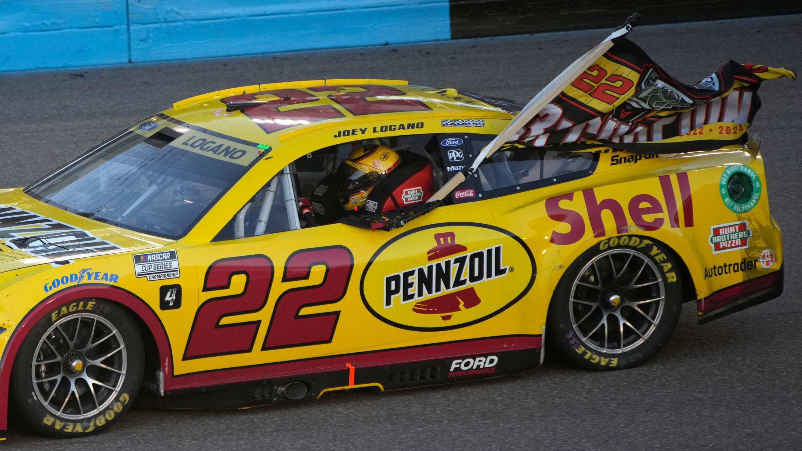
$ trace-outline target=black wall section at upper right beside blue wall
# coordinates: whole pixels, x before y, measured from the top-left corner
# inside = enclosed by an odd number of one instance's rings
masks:
[[[802,13],[800,0],[451,0],[452,39]]]

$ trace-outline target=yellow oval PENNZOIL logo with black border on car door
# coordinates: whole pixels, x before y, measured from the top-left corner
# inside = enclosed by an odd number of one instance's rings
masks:
[[[360,290],[383,322],[417,331],[479,323],[522,298],[535,279],[525,243],[510,232],[470,222],[410,230],[382,246]]]

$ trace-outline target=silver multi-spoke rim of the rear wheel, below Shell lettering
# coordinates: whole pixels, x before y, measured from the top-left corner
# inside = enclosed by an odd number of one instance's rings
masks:
[[[608,250],[580,271],[571,289],[571,324],[585,347],[621,354],[654,333],[666,303],[658,267],[634,250]]]

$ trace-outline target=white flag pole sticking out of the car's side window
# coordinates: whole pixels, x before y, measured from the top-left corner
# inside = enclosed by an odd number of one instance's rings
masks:
[[[557,75],[557,78],[553,79],[551,83],[547,84],[537,95],[534,96],[532,100],[529,100],[529,104],[526,104],[524,109],[520,110],[520,112],[512,118],[512,122],[509,123],[507,128],[504,128],[502,132],[500,132],[495,138],[488,145],[482,149],[479,155],[476,156],[476,160],[473,160],[473,164],[470,168],[456,173],[454,177],[451,178],[443,188],[439,189],[437,193],[434,193],[427,202],[431,201],[441,201],[449,193],[452,192],[457,186],[460,185],[465,179],[471,176],[472,173],[476,172],[476,169],[479,168],[482,161],[487,159],[488,157],[492,156],[493,153],[498,150],[502,144],[507,142],[513,135],[515,135],[520,128],[522,128],[529,120],[532,120],[537,113],[541,112],[546,105],[551,102],[554,97],[557,97],[562,91],[565,90],[566,87],[573,80],[577,79],[582,72],[587,69],[590,64],[595,62],[599,57],[605,54],[606,51],[610,50],[610,47],[613,47],[613,39],[619,38],[621,36],[626,35],[627,33],[632,30],[632,27],[638,26],[638,18],[640,18],[640,14],[635,13],[630,16],[630,18],[626,19],[626,22],[619,26],[610,36],[607,36],[606,39],[599,43],[596,47],[593,47],[589,52],[582,55],[579,59],[573,62],[569,67],[565,68],[565,71],[562,71],[560,75]]]

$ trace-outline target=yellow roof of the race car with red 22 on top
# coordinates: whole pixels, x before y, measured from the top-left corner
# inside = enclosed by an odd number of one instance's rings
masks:
[[[290,119],[284,119],[286,127],[274,132],[269,131],[267,127],[260,127],[260,124],[257,124],[258,120],[255,121],[253,116],[249,117],[241,111],[227,112],[226,104],[223,102],[223,100],[230,102],[232,99],[281,100],[285,91],[289,91],[290,96],[310,95],[307,100],[313,99],[311,95],[314,95],[314,106],[303,107],[302,105],[305,103],[310,104],[307,101],[278,108],[281,112],[296,111],[298,114]],[[370,91],[380,92],[378,98],[377,96],[366,95],[367,100],[371,102],[374,100],[403,100],[410,104],[422,103],[427,108],[411,108],[414,111],[371,112],[357,115],[347,108],[343,108],[342,104],[338,104],[332,99],[335,93],[348,95]],[[387,95],[387,92],[395,93],[395,95]],[[306,108],[309,109],[305,112]],[[314,116],[314,114],[311,114],[314,109],[323,108],[334,108],[340,114],[338,117],[330,119],[315,120],[309,117]],[[279,138],[284,142],[290,136],[299,136],[304,132],[314,131],[322,127],[328,128],[345,124],[354,124],[355,126],[356,124],[366,124],[379,120],[408,120],[423,117],[446,120],[487,119],[506,122],[514,116],[512,111],[515,110],[516,108],[512,106],[512,101],[507,103],[504,100],[486,98],[480,95],[464,95],[454,88],[410,86],[405,80],[318,79],[287,83],[253,84],[208,92],[176,102],[172,108],[165,110],[164,114],[175,117],[178,120],[184,120],[189,124],[208,128],[214,132],[225,133],[229,136],[261,144],[275,145],[278,143]],[[298,120],[298,118],[305,119]],[[265,118],[265,120],[267,119],[270,118]],[[277,122],[281,120],[279,118]],[[271,122],[271,124],[273,123]]]

